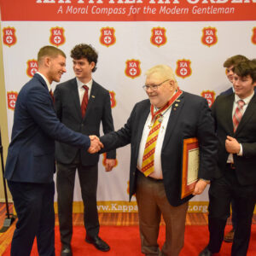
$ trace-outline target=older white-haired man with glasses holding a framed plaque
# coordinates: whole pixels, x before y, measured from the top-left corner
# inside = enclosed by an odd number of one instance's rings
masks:
[[[171,67],[158,65],[146,75],[148,99],[136,104],[123,128],[100,139],[104,151],[131,143],[130,199],[136,194],[142,252],[177,256],[183,248],[188,201],[213,177],[217,139],[207,101],[179,90]],[[181,199],[183,139],[190,137],[199,141],[199,180],[193,195]],[[166,241],[160,249],[161,215]]]

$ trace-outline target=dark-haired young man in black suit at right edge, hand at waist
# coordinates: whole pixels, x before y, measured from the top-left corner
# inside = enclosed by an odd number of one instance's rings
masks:
[[[210,239],[200,256],[218,253],[236,204],[232,256],[246,256],[256,198],[256,65],[243,61],[233,68],[235,93],[218,96],[212,105],[218,136],[217,176],[209,189]]]

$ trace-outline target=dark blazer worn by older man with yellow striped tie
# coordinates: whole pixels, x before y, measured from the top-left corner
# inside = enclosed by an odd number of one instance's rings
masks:
[[[214,177],[217,154],[217,139],[207,101],[201,96],[186,92],[174,103],[166,127],[166,135],[161,150],[166,196],[172,206],[188,201],[192,195],[181,200],[181,172],[183,139],[198,137],[200,143],[199,177],[210,180]],[[178,106],[175,107],[175,104]],[[143,128],[150,111],[149,100],[138,102],[127,123],[119,131],[101,137],[103,150],[123,147],[131,143],[130,199],[136,192],[137,157]]]

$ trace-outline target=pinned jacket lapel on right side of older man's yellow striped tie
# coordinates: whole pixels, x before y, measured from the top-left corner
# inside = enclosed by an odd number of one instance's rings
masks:
[[[177,99],[177,101],[172,104],[172,112],[170,114],[170,117],[167,123],[166,135],[164,138],[164,143],[162,148],[165,148],[167,143],[170,141],[170,138],[172,136],[172,130],[174,129],[175,125],[177,125],[177,119],[179,114],[182,111],[183,103],[184,103],[184,95],[182,94]]]

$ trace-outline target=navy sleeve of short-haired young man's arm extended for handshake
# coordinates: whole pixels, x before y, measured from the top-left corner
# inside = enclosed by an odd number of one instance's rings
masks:
[[[44,87],[30,90],[28,99],[27,111],[49,137],[86,150],[90,147],[89,137],[68,129],[57,119],[49,94]]]

